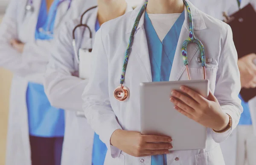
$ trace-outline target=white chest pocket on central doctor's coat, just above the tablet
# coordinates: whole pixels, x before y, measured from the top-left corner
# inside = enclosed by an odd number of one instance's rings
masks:
[[[210,89],[212,92],[215,90],[216,76],[218,67],[206,68],[206,78],[209,80]],[[204,69],[201,68],[189,68],[191,80],[202,80],[204,79]]]

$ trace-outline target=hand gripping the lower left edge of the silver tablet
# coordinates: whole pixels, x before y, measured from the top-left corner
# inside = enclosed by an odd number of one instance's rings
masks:
[[[168,154],[171,137],[142,135],[137,131],[117,129],[111,136],[111,145],[134,157]]]

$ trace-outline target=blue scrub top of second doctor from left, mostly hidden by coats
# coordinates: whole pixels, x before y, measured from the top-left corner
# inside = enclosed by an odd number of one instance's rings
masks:
[[[96,20],[95,24],[95,31],[98,31],[100,28],[99,21]],[[92,157],[92,165],[103,165],[105,161],[105,157],[107,154],[108,148],[99,139],[99,135],[96,133],[94,134],[94,139],[93,139],[93,157]]]

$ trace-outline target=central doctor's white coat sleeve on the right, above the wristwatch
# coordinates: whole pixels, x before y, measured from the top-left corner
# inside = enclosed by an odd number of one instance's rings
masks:
[[[240,73],[237,66],[238,57],[229,25],[227,25],[227,31],[223,33],[227,36],[223,41],[224,43],[221,44],[222,52],[219,59],[214,95],[218,99],[221,109],[232,118],[232,126],[224,133],[216,133],[211,130],[212,138],[216,143],[221,143],[229,137],[239,123],[243,111],[241,100],[238,97],[241,89]]]

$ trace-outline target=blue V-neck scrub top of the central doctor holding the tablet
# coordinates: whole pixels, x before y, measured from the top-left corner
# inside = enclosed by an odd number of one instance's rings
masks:
[[[147,12],[145,12],[144,28],[148,42],[152,81],[169,81],[172,62],[184,20],[185,11],[180,14],[180,17],[166,34],[163,42],[161,42]],[[166,154],[151,156],[151,165],[167,165]]]

